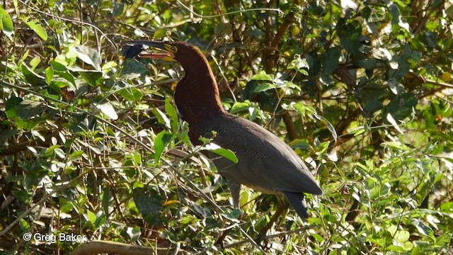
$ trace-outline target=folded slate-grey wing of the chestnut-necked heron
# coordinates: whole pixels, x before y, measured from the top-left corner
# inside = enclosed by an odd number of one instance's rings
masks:
[[[207,134],[211,130],[217,132],[214,143],[236,152],[239,159],[234,164],[223,157],[210,156],[220,174],[230,181],[265,193],[283,192],[291,203],[300,198],[286,193],[322,193],[302,159],[273,133],[230,114],[214,117],[209,123],[205,130]]]

